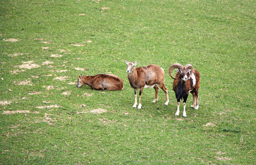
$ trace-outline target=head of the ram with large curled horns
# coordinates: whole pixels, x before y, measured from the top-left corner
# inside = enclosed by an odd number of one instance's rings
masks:
[[[175,69],[177,71],[176,77],[173,77],[173,69]],[[179,80],[189,80],[191,74],[193,73],[193,66],[191,64],[186,64],[184,67],[182,64],[179,63],[175,63],[170,65],[169,68],[169,75],[173,78],[173,79],[179,79]]]

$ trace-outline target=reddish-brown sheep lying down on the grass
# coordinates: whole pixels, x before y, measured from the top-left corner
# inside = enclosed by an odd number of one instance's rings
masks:
[[[77,87],[89,85],[95,90],[119,91],[124,88],[122,80],[114,74],[97,74],[94,76],[80,75],[77,81]]]

